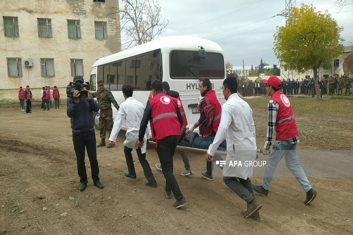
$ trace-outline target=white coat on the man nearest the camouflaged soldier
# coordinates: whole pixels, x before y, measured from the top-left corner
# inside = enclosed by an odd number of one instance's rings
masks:
[[[126,140],[124,145],[128,148],[137,149],[138,148],[138,132],[140,130],[140,123],[143,117],[145,107],[140,101],[135,100],[132,97],[128,97],[124,102],[121,103],[116,115],[113,130],[110,134],[109,141],[116,141],[116,136],[118,136],[121,129],[122,123],[126,122]],[[142,153],[146,153],[146,141],[149,138],[149,130],[146,128],[146,134],[143,137],[145,141],[143,147],[141,148]]]

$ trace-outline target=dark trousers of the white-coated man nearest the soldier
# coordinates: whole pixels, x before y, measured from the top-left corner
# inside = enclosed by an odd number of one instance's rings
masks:
[[[127,169],[129,171],[129,174],[136,174],[135,172],[135,166],[133,165],[133,160],[132,160],[132,154],[131,154],[132,149],[124,146],[124,154],[125,154],[125,159],[126,159],[126,164],[127,164]],[[136,153],[138,156],[138,160],[141,163],[143,173],[145,174],[146,179],[148,180],[149,183],[152,183],[155,180],[151,167],[148,164],[148,161],[146,160],[146,153],[142,154],[141,148],[138,147],[136,149]]]

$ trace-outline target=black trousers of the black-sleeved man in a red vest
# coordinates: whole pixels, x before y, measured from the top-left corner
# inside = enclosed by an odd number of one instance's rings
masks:
[[[157,154],[166,179],[166,190],[172,191],[175,199],[183,199],[177,180],[173,175],[173,156],[179,141],[178,135],[169,135],[157,141]]]

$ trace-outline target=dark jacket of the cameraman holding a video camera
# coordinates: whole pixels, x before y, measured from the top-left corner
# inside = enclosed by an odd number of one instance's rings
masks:
[[[81,99],[79,103],[71,97],[66,101],[66,113],[71,118],[72,131],[87,132],[94,127],[93,112],[98,112],[99,105],[93,99],[92,95],[90,100]]]

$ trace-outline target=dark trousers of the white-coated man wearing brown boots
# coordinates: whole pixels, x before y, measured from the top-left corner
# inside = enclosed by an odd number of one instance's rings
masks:
[[[237,179],[236,177],[223,177],[223,181],[233,192],[237,193],[241,199],[245,200],[245,202],[250,203],[255,199],[250,178],[245,180],[241,178]]]

